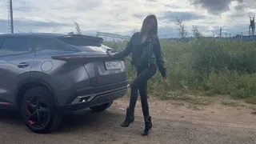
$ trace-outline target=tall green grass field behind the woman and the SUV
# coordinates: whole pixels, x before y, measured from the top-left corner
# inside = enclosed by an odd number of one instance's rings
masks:
[[[123,50],[127,42],[105,42],[115,50]],[[174,99],[177,91],[202,91],[213,97],[227,94],[256,103],[256,42],[161,41],[170,83],[164,84],[160,73],[148,82],[150,95],[163,100]],[[136,70],[126,58],[129,80]],[[182,95],[182,94],[180,94]]]

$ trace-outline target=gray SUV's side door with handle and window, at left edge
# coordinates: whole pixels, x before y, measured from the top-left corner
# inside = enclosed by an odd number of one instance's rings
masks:
[[[18,84],[30,78],[34,49],[30,38],[3,38],[0,45],[0,102],[14,104]],[[0,103],[1,104],[1,103]]]

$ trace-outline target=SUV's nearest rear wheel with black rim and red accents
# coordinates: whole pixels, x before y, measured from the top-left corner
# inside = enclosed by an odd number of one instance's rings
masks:
[[[42,86],[26,92],[22,98],[21,114],[26,126],[39,134],[50,133],[62,121],[62,114],[56,109],[53,95]]]

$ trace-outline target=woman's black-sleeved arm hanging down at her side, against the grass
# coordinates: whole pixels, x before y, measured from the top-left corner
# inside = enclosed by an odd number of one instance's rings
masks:
[[[164,66],[165,62],[163,61],[163,58],[162,58],[162,50],[161,50],[161,46],[158,38],[154,39],[154,54],[157,60],[158,70],[162,74],[162,77],[166,78],[168,76],[168,73]]]

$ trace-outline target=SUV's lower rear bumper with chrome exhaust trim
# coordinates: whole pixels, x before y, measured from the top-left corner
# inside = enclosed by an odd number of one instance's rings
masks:
[[[62,112],[82,110],[91,106],[99,106],[106,102],[112,102],[126,94],[128,82],[122,82],[113,86],[101,86],[94,88],[81,88],[70,98],[66,105],[58,106]],[[111,89],[106,89],[111,87]]]

